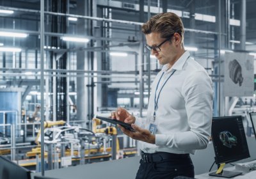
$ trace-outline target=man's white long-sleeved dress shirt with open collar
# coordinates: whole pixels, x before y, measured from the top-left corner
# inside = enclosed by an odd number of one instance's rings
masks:
[[[155,94],[156,97],[159,95],[159,100],[154,121]],[[182,54],[172,68],[168,69],[168,65],[164,65],[152,83],[147,119],[136,118],[135,122],[146,129],[150,123],[157,126],[156,144],[139,141],[139,148],[146,153],[192,154],[196,149],[206,148],[211,135],[212,100],[211,78],[203,66],[189,57],[188,51]]]

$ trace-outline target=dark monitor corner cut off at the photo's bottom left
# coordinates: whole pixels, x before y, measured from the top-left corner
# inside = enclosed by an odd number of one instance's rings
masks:
[[[0,156],[0,178],[4,179],[30,179],[30,171],[15,164],[9,159]]]

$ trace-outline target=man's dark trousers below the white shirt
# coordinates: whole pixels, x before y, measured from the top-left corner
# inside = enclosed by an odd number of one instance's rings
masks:
[[[161,154],[164,154],[164,157],[161,157]],[[166,155],[166,152],[157,152],[150,155],[159,155],[159,159],[162,160],[154,160],[158,159],[158,156],[149,156],[154,159],[145,160],[145,157],[141,155],[140,167],[136,179],[171,179],[175,176],[190,176],[194,178],[195,176],[194,166],[189,154],[182,154],[179,157],[179,154],[170,153],[170,157],[166,157],[168,156]],[[172,157],[173,155],[174,157]]]

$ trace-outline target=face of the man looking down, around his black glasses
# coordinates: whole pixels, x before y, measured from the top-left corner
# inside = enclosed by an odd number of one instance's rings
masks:
[[[159,33],[150,33],[145,36],[147,40],[147,45],[150,47],[157,46],[164,42],[164,40],[166,40],[166,38],[161,38],[161,35]],[[161,49],[161,51],[157,52],[152,49],[151,54],[156,56],[161,65],[165,65],[167,63],[173,65],[173,63],[175,62],[175,56],[177,56],[177,50],[173,43],[173,36],[170,38],[170,40],[164,42],[159,48]]]

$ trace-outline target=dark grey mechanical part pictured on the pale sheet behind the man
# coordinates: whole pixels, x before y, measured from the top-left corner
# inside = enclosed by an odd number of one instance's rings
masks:
[[[239,86],[243,83],[242,68],[236,59],[232,60],[228,64],[229,77],[234,83],[239,82]]]

